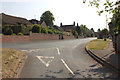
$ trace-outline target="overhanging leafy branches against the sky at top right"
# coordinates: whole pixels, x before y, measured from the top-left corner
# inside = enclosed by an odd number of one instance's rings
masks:
[[[86,1],[83,0],[83,3]],[[99,15],[103,12],[108,12],[110,13],[116,13],[118,10],[117,8],[114,8],[114,6],[118,6],[120,4],[119,0],[116,1],[111,1],[111,0],[89,0],[89,5],[95,6],[96,8],[99,9],[98,13]],[[104,8],[101,9],[100,7],[103,6]]]

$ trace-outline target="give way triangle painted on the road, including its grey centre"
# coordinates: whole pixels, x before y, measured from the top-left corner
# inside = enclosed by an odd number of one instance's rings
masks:
[[[48,67],[50,62],[54,59],[54,57],[48,57],[48,56],[37,56],[37,58],[46,66]]]

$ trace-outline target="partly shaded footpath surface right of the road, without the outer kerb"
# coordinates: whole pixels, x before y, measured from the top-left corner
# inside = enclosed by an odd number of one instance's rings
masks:
[[[91,49],[90,51],[107,63],[110,68],[114,68],[120,76],[120,54],[115,53],[112,41],[109,42],[108,47],[105,50]]]

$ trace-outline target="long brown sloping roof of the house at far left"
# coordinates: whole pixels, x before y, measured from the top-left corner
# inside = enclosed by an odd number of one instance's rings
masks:
[[[8,25],[18,25],[18,24],[32,25],[32,23],[29,22],[26,18],[15,17],[15,16],[4,14],[4,13],[1,13],[0,16],[2,16],[3,25],[6,25],[6,24]]]

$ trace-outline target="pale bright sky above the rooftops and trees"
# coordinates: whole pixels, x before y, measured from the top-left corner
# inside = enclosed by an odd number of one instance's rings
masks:
[[[40,16],[47,10],[55,17],[54,24],[60,26],[73,24],[86,25],[95,31],[106,28],[106,14],[101,16],[96,7],[83,4],[82,0],[2,0],[0,13],[23,17],[28,20],[40,20]]]

